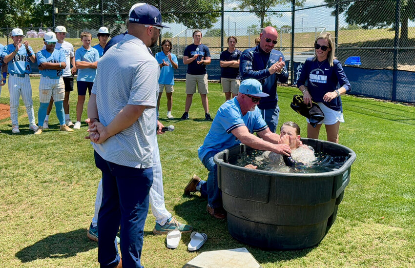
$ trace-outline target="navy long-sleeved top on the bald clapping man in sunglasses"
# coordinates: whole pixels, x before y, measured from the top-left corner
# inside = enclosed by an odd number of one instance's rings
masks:
[[[261,98],[258,108],[262,110],[275,109],[278,102],[277,81],[281,83],[288,81],[287,67],[284,67],[281,74],[271,75],[268,71],[272,64],[279,61],[280,57],[285,61],[281,51],[272,49],[270,53],[267,53],[257,45],[242,52],[239,59],[241,80],[249,78],[258,80],[262,84],[262,91],[270,95]]]

